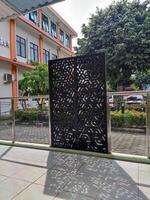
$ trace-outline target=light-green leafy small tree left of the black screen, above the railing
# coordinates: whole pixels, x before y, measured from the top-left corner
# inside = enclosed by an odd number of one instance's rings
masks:
[[[32,71],[26,71],[19,81],[19,88],[24,95],[46,95],[48,91],[48,67],[37,64]]]

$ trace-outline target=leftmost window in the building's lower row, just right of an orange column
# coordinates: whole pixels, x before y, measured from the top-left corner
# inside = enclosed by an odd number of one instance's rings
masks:
[[[26,40],[16,35],[17,56],[26,58]]]

